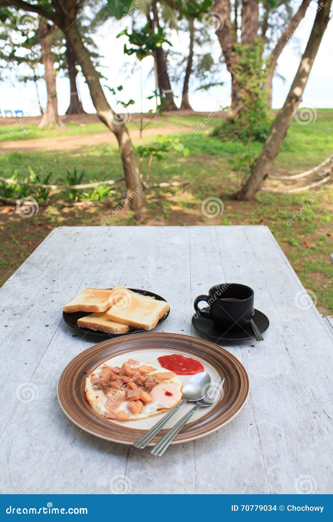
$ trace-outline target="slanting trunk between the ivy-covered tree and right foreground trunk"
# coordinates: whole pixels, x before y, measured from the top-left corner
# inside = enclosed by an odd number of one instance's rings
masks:
[[[300,21],[304,18],[306,9],[308,8],[309,4],[311,3],[311,0],[303,0],[302,4],[300,5],[298,11],[294,14],[294,16],[291,18],[288,27],[283,31],[280,38],[277,41],[277,44],[275,48],[272,50],[271,55],[268,58],[267,61],[267,67],[268,67],[268,74],[267,78],[264,84],[264,90],[268,94],[268,102],[269,102],[269,108],[272,108],[272,82],[273,82],[273,76],[274,72],[278,63],[278,59],[280,54],[282,53],[284,47],[289,42],[289,40],[292,37],[293,32],[295,29],[299,26]],[[267,16],[265,16],[267,18]],[[264,19],[265,22],[265,19]],[[263,30],[265,29],[265,33],[267,30],[267,27],[264,27],[263,23]]]

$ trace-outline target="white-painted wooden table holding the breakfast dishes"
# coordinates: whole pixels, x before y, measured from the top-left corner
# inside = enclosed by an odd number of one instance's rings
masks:
[[[251,383],[236,419],[158,458],[65,417],[58,377],[94,342],[73,335],[64,303],[86,287],[145,288],[170,303],[158,330],[196,336],[193,301],[221,282],[251,286],[270,319],[264,342],[223,343]],[[110,494],[116,475],[131,493],[330,492],[331,340],[267,227],[57,228],[0,294],[2,492]]]

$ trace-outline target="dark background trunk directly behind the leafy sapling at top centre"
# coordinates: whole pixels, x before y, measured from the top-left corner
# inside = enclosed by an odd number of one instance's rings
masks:
[[[153,24],[157,28],[160,25],[158,18],[158,10],[156,4],[152,5]],[[178,107],[173,99],[173,92],[171,89],[170,78],[167,69],[167,58],[165,57],[164,51],[161,47],[156,48],[154,51],[154,60],[156,62],[158,87],[161,104],[163,105],[163,111],[177,111]]]

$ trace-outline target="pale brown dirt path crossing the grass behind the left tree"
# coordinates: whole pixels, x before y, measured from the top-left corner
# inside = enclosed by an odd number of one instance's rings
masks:
[[[192,132],[192,127],[177,127],[169,125],[147,129],[145,136],[157,136],[158,134],[171,134],[179,132]],[[130,131],[130,136],[134,141],[139,138],[139,129]],[[112,132],[102,132],[87,134],[83,136],[56,136],[48,138],[21,139],[17,141],[3,141],[0,143],[0,152],[30,152],[30,151],[53,151],[53,150],[73,150],[91,145],[114,145],[116,138]]]

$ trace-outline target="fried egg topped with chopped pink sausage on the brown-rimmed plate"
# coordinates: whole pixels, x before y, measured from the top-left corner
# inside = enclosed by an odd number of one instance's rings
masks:
[[[122,359],[123,360],[123,359]],[[154,384],[153,384],[154,383]],[[174,372],[150,362],[109,359],[87,377],[90,406],[105,419],[140,420],[170,410],[182,399]]]

